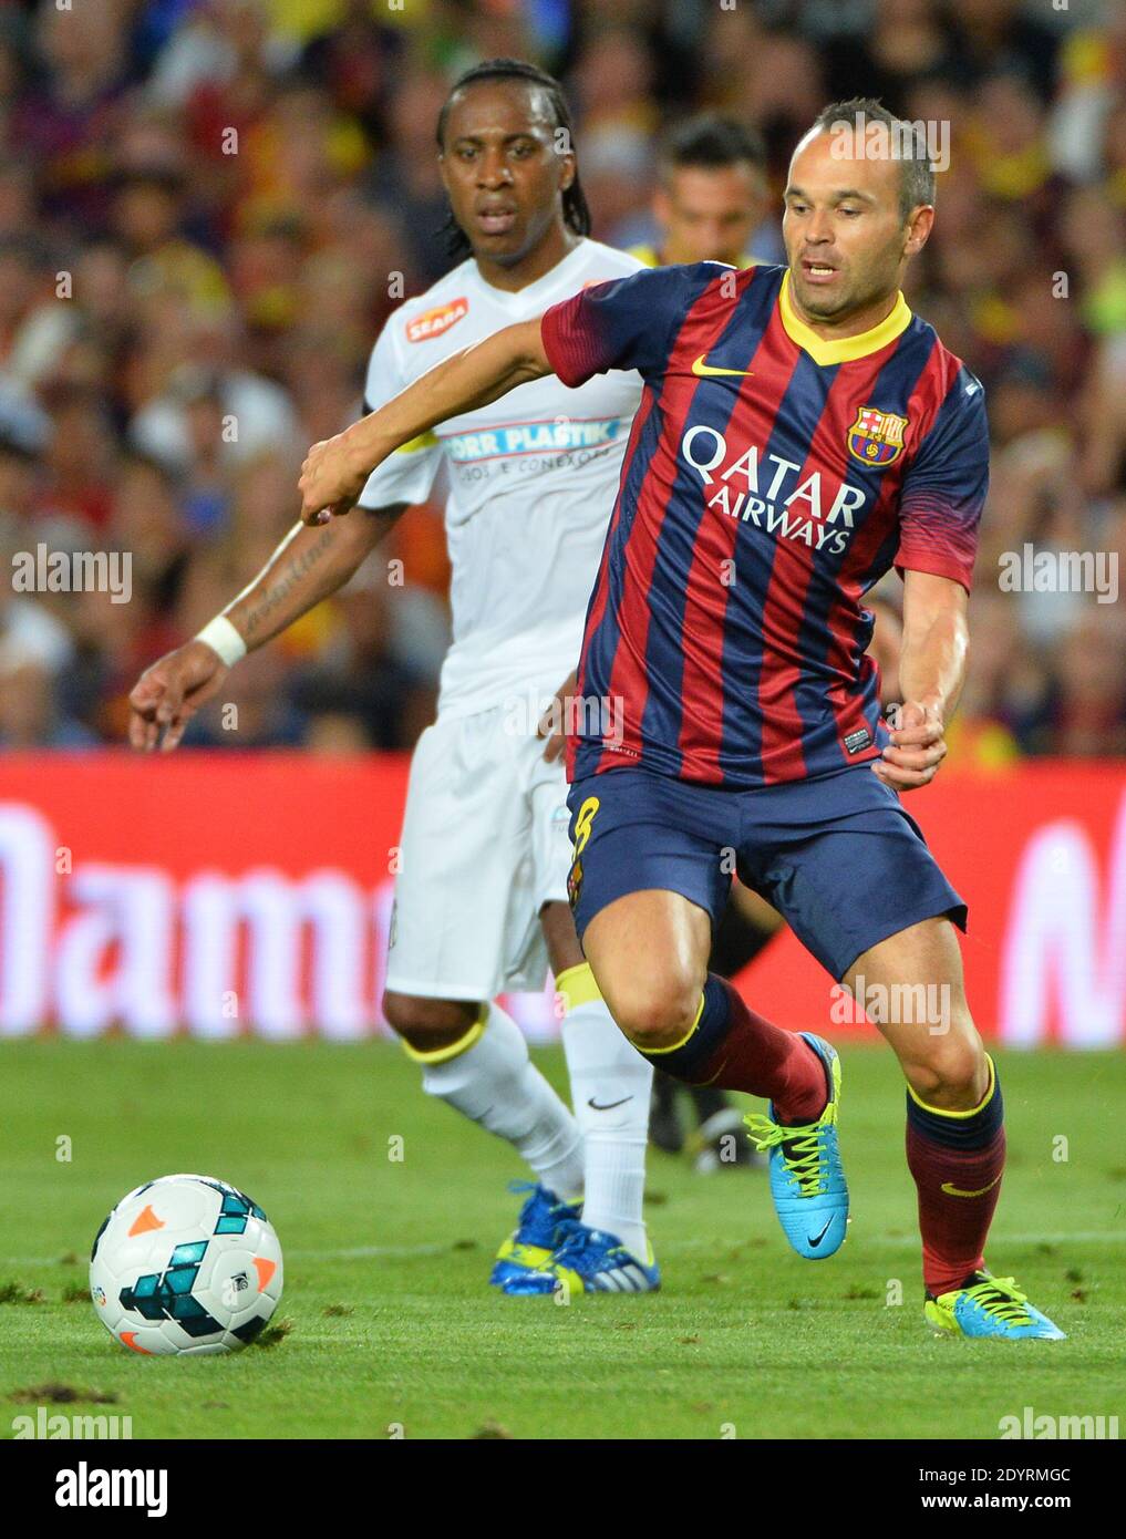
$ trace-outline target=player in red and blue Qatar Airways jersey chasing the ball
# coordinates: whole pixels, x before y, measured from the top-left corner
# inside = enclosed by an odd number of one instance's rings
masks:
[[[986,1270],[1001,1090],[964,997],[966,903],[900,805],[946,754],[989,477],[981,385],[901,292],[934,217],[921,132],[834,103],[791,162],[785,268],[660,268],[508,328],[314,445],[303,517],[348,511],[398,443],[520,382],[640,371],[578,665],[580,697],[621,719],[609,734],[588,711],[568,742],[572,908],[603,997],[678,1079],[769,1097],[751,1127],[775,1210],[820,1259],[848,1222],[840,1062],[708,974],[732,863],[866,1002],[923,985],[935,1011],[878,1025],[908,1087],[924,1314],[1058,1339]],[[904,699],[888,728],[863,599],[892,566]]]

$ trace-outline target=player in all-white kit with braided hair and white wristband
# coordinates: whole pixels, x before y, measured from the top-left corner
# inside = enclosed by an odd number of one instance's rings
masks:
[[[566,102],[535,66],[468,71],[441,111],[438,154],[465,260],[391,315],[365,412],[474,340],[641,266],[588,239]],[[560,1279],[586,1291],[658,1285],[641,1219],[652,1071],[578,946],[563,765],[537,739],[543,705],[578,659],[640,394],[635,374],[580,389],[537,380],[405,445],[368,482],[360,517],[298,523],[131,697],[134,746],[175,748],[228,668],[340,588],[445,469],[454,639],[437,720],[411,765],[383,1011],[423,1088],[512,1143],[532,1171],[491,1276],[506,1293],[551,1293]],[[540,988],[548,965],[574,1113],[495,1003]]]

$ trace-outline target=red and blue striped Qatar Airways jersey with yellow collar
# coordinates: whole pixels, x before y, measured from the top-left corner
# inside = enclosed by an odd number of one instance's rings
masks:
[[[552,306],[541,334],[566,385],[645,380],[586,613],[571,779],[641,765],[757,788],[877,757],[863,597],[892,565],[969,588],[989,479],[978,380],[901,294],[872,331],[825,342],[780,266],[637,272]]]

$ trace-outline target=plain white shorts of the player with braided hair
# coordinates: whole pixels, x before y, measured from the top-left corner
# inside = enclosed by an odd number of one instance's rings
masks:
[[[508,729],[506,729],[508,725]],[[489,1000],[540,990],[540,908],[566,902],[563,760],[515,734],[501,708],[438,720],[418,739],[406,791],[386,986]]]

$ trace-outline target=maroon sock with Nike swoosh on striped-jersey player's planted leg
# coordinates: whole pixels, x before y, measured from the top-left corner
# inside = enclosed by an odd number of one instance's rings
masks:
[[[918,1190],[923,1279],[935,1296],[960,1288],[984,1267],[986,1236],[1004,1171],[1000,1100],[994,1087],[989,1102],[972,1117],[955,1120],[908,1097],[908,1167]],[[974,1134],[988,1134],[988,1142],[968,1147],[977,1142]]]

